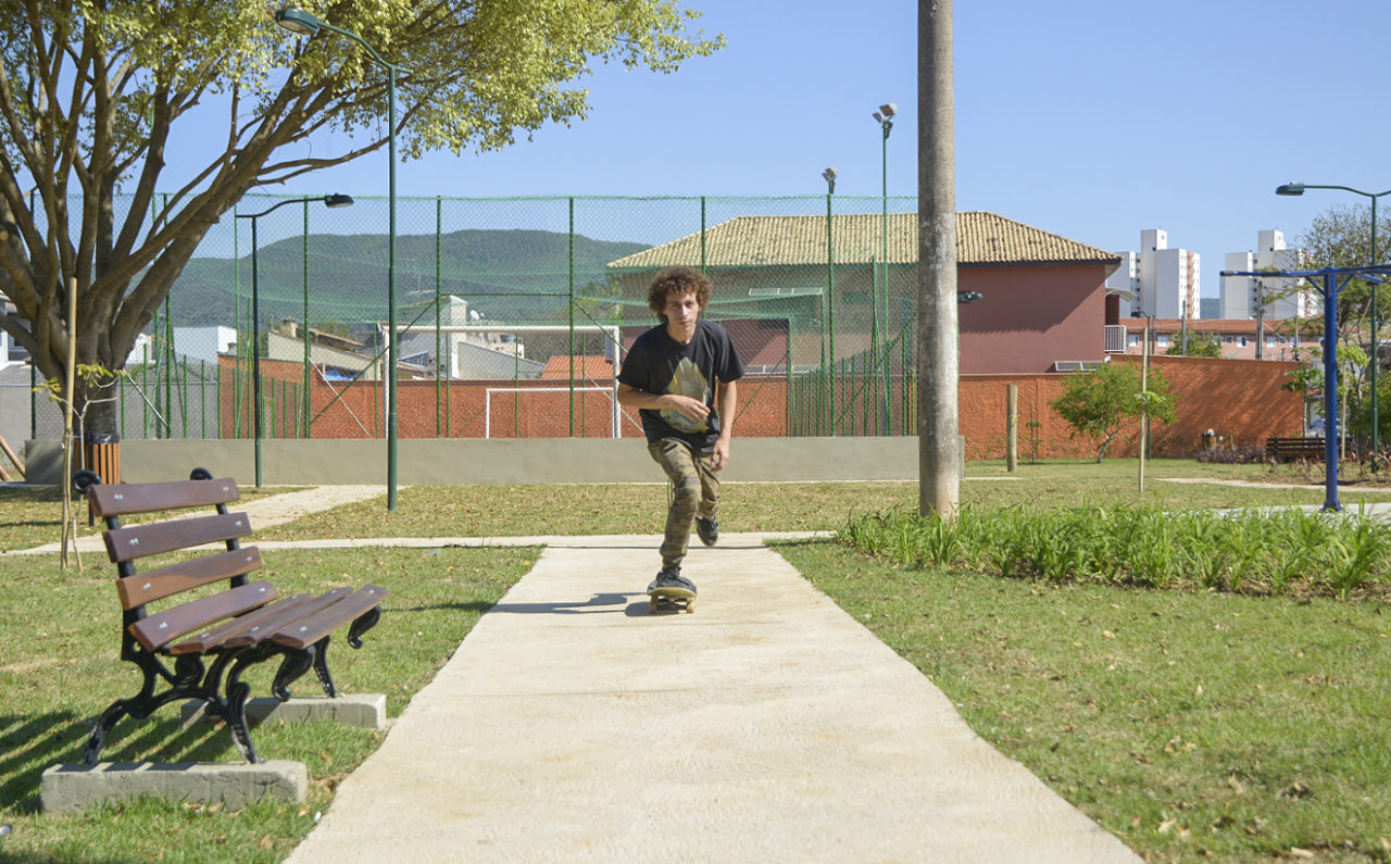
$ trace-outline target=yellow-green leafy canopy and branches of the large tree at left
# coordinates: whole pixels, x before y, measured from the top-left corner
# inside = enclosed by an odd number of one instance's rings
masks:
[[[594,63],[670,72],[723,38],[675,0],[341,0],[305,7],[357,33],[398,75],[398,146],[492,150],[583,120]],[[250,189],[387,141],[387,77],[352,39],[295,38],[262,0],[22,0],[0,15],[0,327],[43,377],[68,353],[120,369],[209,228]],[[225,147],[160,188],[179,124],[225,106]],[[291,146],[320,129],[338,153]],[[117,192],[129,206],[117,206]],[[97,412],[102,416],[102,412]],[[100,429],[100,426],[96,426]]]

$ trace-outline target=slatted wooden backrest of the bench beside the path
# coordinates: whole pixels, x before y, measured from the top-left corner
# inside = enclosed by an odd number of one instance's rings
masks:
[[[241,497],[235,480],[96,483],[88,487],[86,494],[92,512],[106,520],[107,530],[102,537],[107,555],[117,565],[125,640],[157,651],[179,636],[214,626],[278,597],[268,582],[248,580],[248,573],[259,570],[262,561],[256,547],[242,548],[238,543],[250,534],[246,513],[227,512],[227,505]],[[121,516],[198,506],[213,506],[216,513],[172,515],[163,522],[121,525]],[[211,550],[202,548],[210,544]],[[171,552],[188,554],[178,561],[161,561],[156,562],[157,566],[140,569],[143,559]],[[170,602],[160,602],[167,600]],[[124,644],[122,653],[127,650],[134,650],[134,646]]]

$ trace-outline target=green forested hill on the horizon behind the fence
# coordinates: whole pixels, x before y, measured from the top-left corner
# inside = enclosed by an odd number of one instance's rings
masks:
[[[437,252],[438,242],[438,252]],[[604,266],[645,243],[574,237],[574,288],[602,282]],[[398,321],[409,323],[438,291],[469,301],[497,321],[552,320],[562,314],[570,285],[570,237],[552,231],[456,231],[396,238]],[[309,323],[357,324],[387,317],[388,238],[384,234],[309,235]],[[305,317],[306,249],[302,238],[259,250],[262,326]],[[175,326],[234,326],[252,294],[252,259],[195,257],[170,292]],[[433,320],[433,312],[424,321]]]

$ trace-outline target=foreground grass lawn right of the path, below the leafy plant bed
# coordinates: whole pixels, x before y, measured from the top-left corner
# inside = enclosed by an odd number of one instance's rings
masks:
[[[778,548],[978,735],[1149,860],[1391,860],[1385,605]]]

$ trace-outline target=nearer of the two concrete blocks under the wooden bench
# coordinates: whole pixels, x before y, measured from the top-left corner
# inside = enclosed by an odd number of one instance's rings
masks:
[[[299,803],[309,789],[303,762],[97,762],[43,772],[43,813],[75,813],[145,794],[241,810],[262,799]]]

